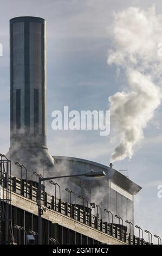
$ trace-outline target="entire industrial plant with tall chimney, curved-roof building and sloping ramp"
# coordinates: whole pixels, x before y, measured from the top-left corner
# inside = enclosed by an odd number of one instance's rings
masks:
[[[10,149],[0,157],[1,244],[152,243],[134,235],[140,186],[112,164],[50,155],[46,90],[46,21],[11,19]],[[89,172],[105,178],[84,175]],[[40,179],[62,175],[80,176],[51,179],[39,188]]]

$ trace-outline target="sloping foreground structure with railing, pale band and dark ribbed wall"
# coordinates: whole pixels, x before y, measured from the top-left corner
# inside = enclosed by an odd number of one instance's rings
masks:
[[[38,242],[37,182],[11,175],[10,160],[1,155],[1,244],[27,244],[29,236]],[[34,186],[35,185],[35,186]],[[135,237],[123,223],[102,220],[85,204],[64,202],[42,186],[42,244],[148,244]]]

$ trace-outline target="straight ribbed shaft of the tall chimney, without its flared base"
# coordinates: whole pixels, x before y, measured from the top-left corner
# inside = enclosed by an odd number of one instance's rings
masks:
[[[46,133],[45,29],[46,23],[41,18],[18,17],[10,21],[12,135]],[[16,96],[17,90],[20,90],[20,99]]]

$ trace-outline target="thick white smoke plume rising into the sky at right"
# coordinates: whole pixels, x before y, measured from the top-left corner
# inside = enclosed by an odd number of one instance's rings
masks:
[[[118,145],[111,161],[131,159],[135,146],[161,102],[162,16],[155,8],[130,7],[114,14],[113,47],[108,65],[124,72],[128,87],[109,97],[111,123]],[[159,52],[160,53],[160,52]]]

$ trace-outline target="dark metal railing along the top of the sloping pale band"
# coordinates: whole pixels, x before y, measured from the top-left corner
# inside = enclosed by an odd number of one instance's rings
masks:
[[[30,183],[27,184],[27,182],[24,180],[21,181],[16,177],[11,177],[9,179],[9,187],[11,188],[12,192],[37,202],[37,188]],[[148,244],[148,242],[146,242],[144,239],[127,233],[127,227],[125,225],[100,220],[99,216],[94,216],[92,214],[92,209],[85,207],[83,210],[78,205],[63,202],[60,198],[45,192],[43,190],[43,186],[42,205],[47,209],[60,212],[60,214],[73,218],[76,221],[111,235],[125,243],[138,245]]]

